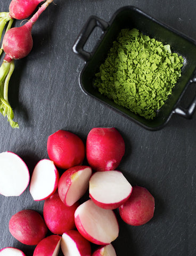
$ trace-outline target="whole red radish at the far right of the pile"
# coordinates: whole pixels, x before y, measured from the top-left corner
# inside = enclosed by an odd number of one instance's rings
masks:
[[[154,197],[146,188],[133,186],[129,199],[119,207],[119,214],[129,225],[144,225],[154,215]]]

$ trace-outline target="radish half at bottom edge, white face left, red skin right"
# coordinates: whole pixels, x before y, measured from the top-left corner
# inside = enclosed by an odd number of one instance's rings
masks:
[[[91,256],[91,244],[77,230],[62,235],[61,250],[64,256]]]

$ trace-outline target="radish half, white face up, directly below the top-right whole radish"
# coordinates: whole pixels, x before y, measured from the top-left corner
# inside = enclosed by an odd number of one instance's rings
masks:
[[[89,180],[89,196],[104,209],[116,209],[126,202],[132,186],[120,171],[95,172]]]

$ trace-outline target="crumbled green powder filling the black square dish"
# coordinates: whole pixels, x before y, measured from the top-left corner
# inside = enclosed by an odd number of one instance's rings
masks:
[[[152,119],[181,76],[183,57],[137,29],[121,30],[96,74],[95,87],[135,114]]]

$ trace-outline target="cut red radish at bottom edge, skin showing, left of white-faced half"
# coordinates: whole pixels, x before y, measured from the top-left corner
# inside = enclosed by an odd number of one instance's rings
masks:
[[[58,256],[61,244],[61,236],[50,235],[40,241],[35,247],[32,256]]]

